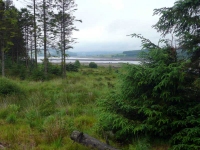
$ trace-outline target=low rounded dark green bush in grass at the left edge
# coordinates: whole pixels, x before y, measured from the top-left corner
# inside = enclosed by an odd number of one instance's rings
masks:
[[[7,78],[0,78],[0,95],[22,94],[22,89]]]

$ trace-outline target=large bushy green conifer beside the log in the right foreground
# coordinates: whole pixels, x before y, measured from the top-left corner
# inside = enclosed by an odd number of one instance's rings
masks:
[[[169,44],[160,48],[132,36],[149,51],[141,53],[141,65],[125,65],[118,90],[99,100],[99,125],[123,142],[150,136],[170,140],[172,149],[199,149],[198,76],[187,71],[188,62],[177,61]]]

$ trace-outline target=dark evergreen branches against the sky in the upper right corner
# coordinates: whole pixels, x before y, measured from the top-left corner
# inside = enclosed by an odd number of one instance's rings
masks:
[[[154,10],[154,15],[160,18],[153,27],[164,36],[169,33],[176,36],[179,48],[191,54],[191,67],[200,63],[199,6],[199,0],[177,0],[172,7]]]

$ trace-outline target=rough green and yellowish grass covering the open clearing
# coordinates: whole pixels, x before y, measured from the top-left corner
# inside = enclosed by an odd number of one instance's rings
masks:
[[[66,80],[23,80],[16,84],[5,79],[26,90],[19,88],[25,93],[23,97],[0,96],[0,143],[8,150],[88,150],[70,139],[73,130],[105,141],[95,132],[96,100],[113,90],[109,85],[115,85],[116,75],[104,67],[83,67],[79,72],[68,72]]]

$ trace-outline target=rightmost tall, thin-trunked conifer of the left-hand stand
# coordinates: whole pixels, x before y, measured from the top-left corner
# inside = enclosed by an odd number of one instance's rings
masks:
[[[71,37],[72,32],[77,30],[74,26],[75,16],[73,12],[76,10],[77,5],[74,0],[57,0],[56,7],[58,14],[55,15],[55,33],[59,37],[58,45],[61,51],[61,65],[62,65],[62,76],[66,77],[66,50],[73,48],[69,44],[74,42],[74,39]]]

